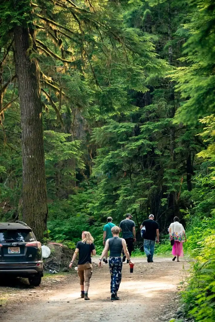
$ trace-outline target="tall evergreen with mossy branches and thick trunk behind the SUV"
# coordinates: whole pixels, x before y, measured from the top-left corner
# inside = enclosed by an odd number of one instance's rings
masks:
[[[67,106],[70,139],[75,140],[71,122],[80,112],[95,118],[136,109],[127,90],[147,90],[144,63],[151,61],[148,70],[166,69],[165,62],[157,65],[149,39],[125,28],[120,20],[122,8],[116,9],[111,3],[77,6],[69,0],[4,2],[2,43],[7,46],[11,38],[6,55],[14,51],[22,116],[23,219],[39,239],[47,219],[42,106],[54,109],[61,132],[65,131],[62,114]]]

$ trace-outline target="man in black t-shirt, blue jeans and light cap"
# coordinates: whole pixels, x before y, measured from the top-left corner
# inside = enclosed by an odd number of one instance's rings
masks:
[[[149,219],[144,220],[140,229],[145,226],[144,235],[144,251],[147,256],[147,262],[153,262],[155,235],[157,235],[157,242],[159,242],[158,223],[154,221],[154,215],[149,215]]]

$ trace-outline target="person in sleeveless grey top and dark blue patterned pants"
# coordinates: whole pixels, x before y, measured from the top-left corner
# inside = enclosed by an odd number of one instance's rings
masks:
[[[105,248],[101,254],[101,259],[104,256],[107,256],[108,250],[110,250],[109,256],[109,269],[110,269],[110,291],[111,291],[111,300],[116,301],[119,300],[117,296],[117,291],[119,289],[119,285],[122,279],[122,250],[124,251],[127,259],[129,259],[129,263],[133,262],[130,259],[129,252],[127,250],[126,241],[123,238],[119,238],[120,228],[118,226],[114,226],[111,228],[111,232],[113,237],[107,239]],[[107,258],[107,257],[106,257]],[[102,260],[99,259],[98,266],[101,267]]]

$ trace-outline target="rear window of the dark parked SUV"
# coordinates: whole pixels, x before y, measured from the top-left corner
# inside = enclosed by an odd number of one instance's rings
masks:
[[[29,230],[0,230],[0,242],[34,242],[33,233]]]

